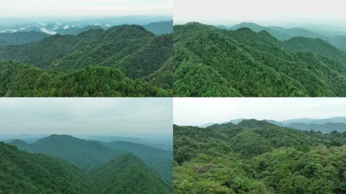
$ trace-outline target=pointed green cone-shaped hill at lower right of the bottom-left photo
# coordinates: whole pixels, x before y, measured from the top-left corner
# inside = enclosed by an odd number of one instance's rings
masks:
[[[168,194],[171,184],[133,154],[122,155],[92,172],[100,194]]]

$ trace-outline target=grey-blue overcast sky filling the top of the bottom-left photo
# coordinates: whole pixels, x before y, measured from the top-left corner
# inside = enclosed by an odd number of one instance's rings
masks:
[[[171,98],[1,98],[0,134],[172,134]]]

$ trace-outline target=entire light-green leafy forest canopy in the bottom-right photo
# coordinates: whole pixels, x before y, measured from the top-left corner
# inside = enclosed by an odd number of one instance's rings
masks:
[[[346,132],[174,125],[174,193],[346,193]]]

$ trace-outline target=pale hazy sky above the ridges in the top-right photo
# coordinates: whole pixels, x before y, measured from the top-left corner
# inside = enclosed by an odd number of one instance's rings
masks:
[[[343,0],[175,0],[176,24],[197,21],[206,24],[256,22],[262,25],[282,23],[344,24]]]

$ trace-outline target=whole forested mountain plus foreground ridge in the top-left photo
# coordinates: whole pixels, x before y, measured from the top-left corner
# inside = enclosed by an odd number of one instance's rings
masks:
[[[172,96],[171,58],[172,34],[137,25],[56,34],[0,48],[0,95]]]

